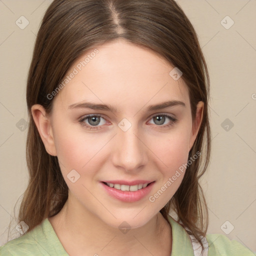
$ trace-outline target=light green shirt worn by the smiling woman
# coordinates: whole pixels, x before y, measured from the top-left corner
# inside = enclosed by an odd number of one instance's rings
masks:
[[[172,229],[172,251],[170,256],[194,256],[191,239],[185,229],[171,216],[168,216]],[[207,234],[208,256],[253,256],[251,250],[223,234]],[[44,219],[24,235],[8,241],[0,247],[1,256],[68,256],[60,243],[49,220]],[[199,255],[199,254],[198,254]]]

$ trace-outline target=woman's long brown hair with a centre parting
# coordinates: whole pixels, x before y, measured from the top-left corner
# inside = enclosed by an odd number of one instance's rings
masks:
[[[209,76],[196,32],[174,0],[54,0],[50,4],[37,34],[27,79],[29,182],[17,222],[24,221],[31,230],[44,218],[57,214],[68,196],[57,157],[46,152],[31,106],[41,104],[50,113],[53,100],[46,95],[62,81],[74,61],[88,49],[117,38],[152,49],[182,71],[192,120],[196,104],[204,102],[202,122],[188,156],[203,151],[204,161],[198,157],[187,166],[179,188],[160,210],[167,220],[172,208],[202,245],[208,212],[198,179],[210,156]]]

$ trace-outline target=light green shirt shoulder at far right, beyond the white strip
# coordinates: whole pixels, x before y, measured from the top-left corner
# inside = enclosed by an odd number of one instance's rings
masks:
[[[255,254],[236,240],[223,234],[206,234],[208,256],[255,256]]]

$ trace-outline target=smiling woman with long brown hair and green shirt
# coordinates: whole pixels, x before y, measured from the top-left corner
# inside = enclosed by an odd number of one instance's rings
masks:
[[[27,81],[25,234],[1,255],[252,255],[206,235],[208,96],[175,1],[54,0]]]

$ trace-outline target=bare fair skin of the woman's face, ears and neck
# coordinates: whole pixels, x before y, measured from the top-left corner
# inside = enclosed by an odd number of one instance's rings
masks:
[[[121,39],[97,49],[99,52],[53,98],[50,115],[41,105],[31,108],[45,149],[58,157],[69,188],[64,207],[49,221],[69,255],[101,256],[114,251],[115,255],[169,256],[171,227],[159,210],[177,190],[184,172],[154,202],[148,197],[187,162],[201,123],[203,102],[198,102],[192,122],[182,76],[175,81],[169,75],[173,66],[149,49]],[[75,61],[67,74],[90,52]],[[146,110],[167,100],[180,100],[185,106]],[[68,108],[84,101],[109,104],[117,111]],[[103,116],[98,129],[89,130],[78,121],[87,114]],[[172,123],[165,117],[164,124],[156,123],[152,115],[157,114],[169,114],[177,121]],[[127,131],[118,127],[123,118],[131,123]],[[90,125],[88,119],[83,122]],[[80,175],[74,183],[67,178],[72,169]],[[155,182],[149,195],[123,202],[102,188],[100,181],[107,179]],[[123,221],[131,227],[127,233],[118,228]]]

